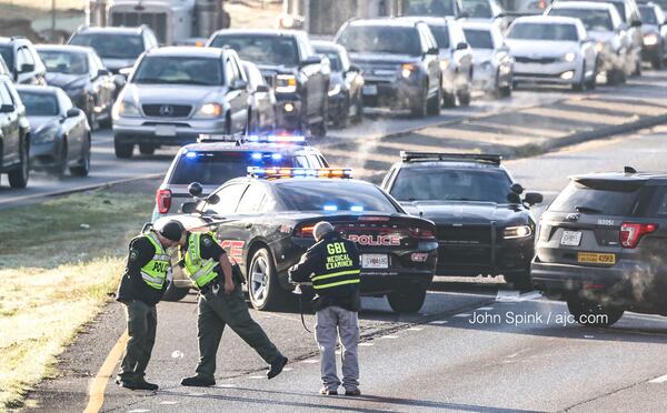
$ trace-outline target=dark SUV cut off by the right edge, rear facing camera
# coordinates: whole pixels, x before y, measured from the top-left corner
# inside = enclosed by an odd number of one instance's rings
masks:
[[[532,281],[575,321],[667,315],[667,173],[574,177],[542,214]]]

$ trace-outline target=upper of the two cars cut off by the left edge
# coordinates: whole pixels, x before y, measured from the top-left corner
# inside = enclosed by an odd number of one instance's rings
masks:
[[[47,68],[27,38],[0,38],[0,56],[14,83],[47,84]]]

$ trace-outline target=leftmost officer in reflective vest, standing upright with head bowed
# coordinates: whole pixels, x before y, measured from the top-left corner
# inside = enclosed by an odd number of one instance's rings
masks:
[[[160,231],[150,229],[130,242],[126,270],[116,300],[126,306],[128,334],[125,356],[116,383],[130,390],[158,390],[148,383],[146,366],[156,342],[158,313],[156,304],[167,290],[171,260],[167,249],[178,245],[183,226],[169,221]]]

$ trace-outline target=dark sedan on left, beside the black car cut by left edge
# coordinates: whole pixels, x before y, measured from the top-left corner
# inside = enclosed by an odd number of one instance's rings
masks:
[[[18,85],[30,122],[30,164],[61,177],[90,171],[90,127],[86,114],[54,87]]]

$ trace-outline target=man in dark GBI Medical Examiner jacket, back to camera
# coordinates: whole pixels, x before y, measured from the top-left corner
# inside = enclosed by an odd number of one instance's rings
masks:
[[[342,344],[342,386],[345,394],[358,396],[359,360],[359,251],[326,221],[312,230],[317,243],[301,261],[289,269],[291,282],[312,282],[317,323],[315,338],[320,349],[323,386],[321,394],[336,395],[340,381],[336,373],[336,344]]]

